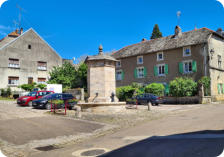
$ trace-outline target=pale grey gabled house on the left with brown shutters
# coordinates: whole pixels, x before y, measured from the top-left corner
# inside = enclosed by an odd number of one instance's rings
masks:
[[[49,71],[62,62],[34,29],[17,29],[0,40],[0,88],[19,91],[21,84],[44,83],[49,79]]]

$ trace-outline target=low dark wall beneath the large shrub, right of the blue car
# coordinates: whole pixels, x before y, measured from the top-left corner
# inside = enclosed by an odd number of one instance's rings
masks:
[[[193,97],[164,97],[164,104],[199,104],[199,96]]]

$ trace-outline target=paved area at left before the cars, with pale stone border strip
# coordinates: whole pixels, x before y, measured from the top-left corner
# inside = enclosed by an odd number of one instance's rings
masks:
[[[51,145],[103,128],[99,123],[52,116],[46,110],[21,107],[14,101],[0,101],[0,143],[11,146]]]

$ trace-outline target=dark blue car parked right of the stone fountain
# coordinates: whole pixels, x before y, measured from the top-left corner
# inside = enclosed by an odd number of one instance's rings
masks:
[[[156,105],[156,106],[163,102],[161,97],[158,97],[150,93],[137,95],[136,101],[139,105],[151,103],[152,105]]]

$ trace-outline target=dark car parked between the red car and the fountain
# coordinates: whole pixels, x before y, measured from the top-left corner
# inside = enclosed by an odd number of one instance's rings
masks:
[[[32,102],[33,108],[42,108],[42,109],[51,109],[51,100],[72,100],[74,99],[74,96],[72,94],[67,94],[67,93],[54,93],[54,94],[49,94],[46,95],[40,99],[34,100]],[[72,109],[76,102],[68,102],[67,103],[67,108]],[[65,104],[62,104],[60,106],[57,106],[57,108],[65,108]]]

